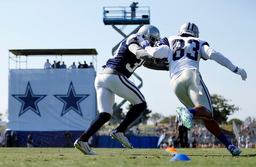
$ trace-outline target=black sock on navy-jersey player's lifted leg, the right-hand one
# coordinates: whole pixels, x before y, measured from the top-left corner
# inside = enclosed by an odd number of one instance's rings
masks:
[[[147,106],[147,103],[145,101],[143,103],[135,104],[134,106],[132,106],[132,108],[130,108],[130,110],[127,112],[126,117],[124,118],[124,120],[117,127],[117,131],[125,133],[128,126],[133,121],[135,121],[135,119],[138,118],[138,116],[144,111],[146,106]]]

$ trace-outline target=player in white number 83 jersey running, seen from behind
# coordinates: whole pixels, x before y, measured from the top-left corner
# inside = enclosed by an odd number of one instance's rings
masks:
[[[237,156],[242,151],[227,140],[218,123],[213,119],[212,101],[199,72],[199,61],[200,58],[214,60],[235,74],[241,75],[244,81],[247,74],[244,69],[234,66],[228,58],[210,48],[206,41],[198,37],[198,27],[188,22],[180,27],[178,36],[163,38],[159,47],[148,47],[148,41],[143,41],[140,45],[155,58],[167,58],[170,64],[171,88],[186,106],[186,108],[179,106],[176,109],[184,125],[191,129],[192,117],[201,117],[209,132],[216,136],[232,155]]]

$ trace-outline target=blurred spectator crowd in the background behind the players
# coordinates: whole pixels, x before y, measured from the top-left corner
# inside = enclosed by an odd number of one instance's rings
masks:
[[[106,128],[107,126],[108,128]],[[109,136],[113,131],[115,125],[103,125],[99,130],[99,135]],[[156,136],[165,137],[159,148],[180,148],[179,134],[175,130],[173,123],[159,125],[155,122],[155,128],[136,125],[130,129],[134,136]],[[256,148],[255,134],[252,125],[242,125],[239,129],[240,137],[233,144],[239,148]],[[252,140],[254,139],[254,140]],[[223,148],[223,144],[216,142],[212,133],[210,133],[204,126],[195,125],[189,132],[188,148]]]

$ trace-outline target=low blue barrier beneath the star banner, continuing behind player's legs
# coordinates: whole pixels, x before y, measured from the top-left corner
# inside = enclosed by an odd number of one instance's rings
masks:
[[[27,131],[6,131],[6,147],[27,147]],[[73,143],[83,131],[69,131],[71,137],[67,140],[66,131],[33,131],[34,147],[74,147]],[[159,137],[156,136],[128,136],[134,148],[157,148]],[[122,144],[110,136],[93,136],[92,147],[123,148]]]

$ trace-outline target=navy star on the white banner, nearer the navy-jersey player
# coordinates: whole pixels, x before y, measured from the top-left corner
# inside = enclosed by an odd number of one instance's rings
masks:
[[[83,101],[89,94],[76,94],[72,82],[69,85],[68,93],[65,95],[53,95],[60,101],[64,102],[61,116],[73,109],[76,113],[83,116],[79,103]]]

